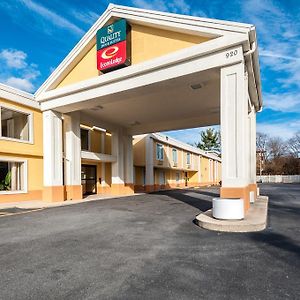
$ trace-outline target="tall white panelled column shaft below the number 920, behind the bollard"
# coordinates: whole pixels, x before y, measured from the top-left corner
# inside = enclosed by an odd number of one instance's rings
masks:
[[[248,99],[244,64],[221,69],[222,187],[246,187],[248,167]]]

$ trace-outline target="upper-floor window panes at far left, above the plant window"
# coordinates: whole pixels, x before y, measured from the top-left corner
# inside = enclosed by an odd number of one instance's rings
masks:
[[[3,138],[30,141],[30,114],[0,107],[1,128]]]

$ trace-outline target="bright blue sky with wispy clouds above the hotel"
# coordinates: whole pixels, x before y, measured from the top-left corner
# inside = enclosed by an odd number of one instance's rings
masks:
[[[106,9],[102,0],[1,0],[0,82],[34,92]],[[258,131],[300,130],[299,0],[128,0],[115,4],[252,23],[257,28],[264,110]],[[169,132],[185,142],[201,129]]]

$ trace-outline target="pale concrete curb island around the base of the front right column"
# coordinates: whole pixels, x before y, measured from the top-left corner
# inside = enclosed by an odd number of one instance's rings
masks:
[[[269,197],[258,196],[251,204],[244,220],[217,220],[212,217],[212,210],[196,216],[195,223],[205,229],[222,232],[255,232],[267,226]]]

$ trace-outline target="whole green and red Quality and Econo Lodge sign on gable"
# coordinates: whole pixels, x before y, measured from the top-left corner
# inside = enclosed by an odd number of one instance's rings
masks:
[[[121,19],[97,32],[97,69],[102,73],[131,64],[130,26]]]

